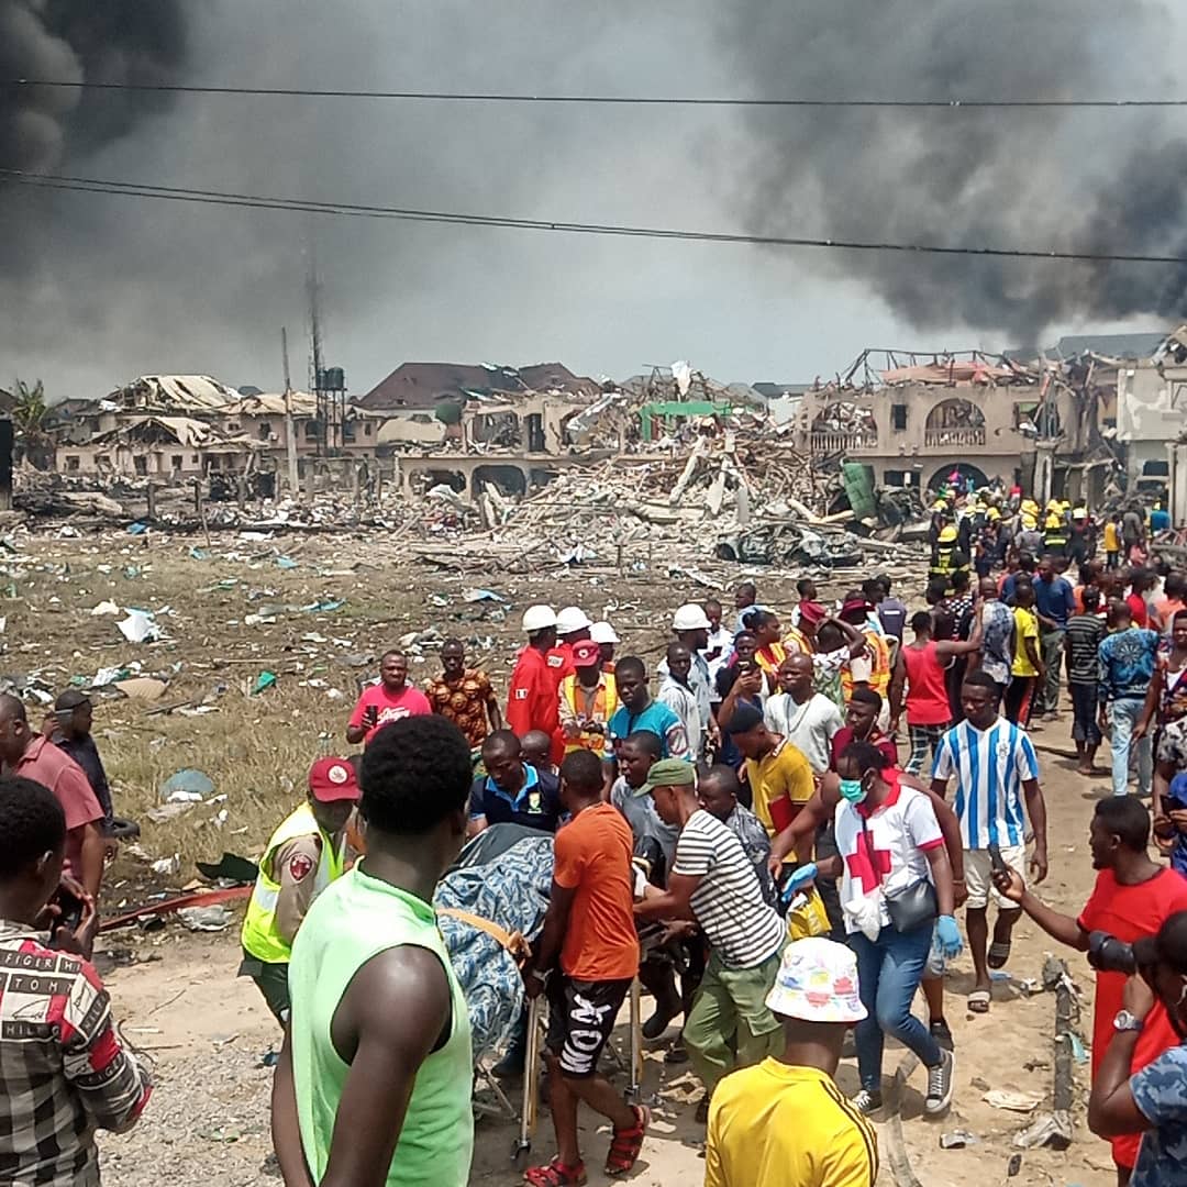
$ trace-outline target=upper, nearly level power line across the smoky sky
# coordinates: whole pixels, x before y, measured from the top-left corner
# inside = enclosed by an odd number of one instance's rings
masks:
[[[527,95],[500,91],[329,90],[303,87],[198,87],[180,83],[65,82],[61,78],[7,78],[0,88],[53,87],[129,90],[176,95],[248,95],[281,99],[386,99],[434,103],[567,103],[622,107],[855,107],[855,108],[1151,108],[1187,107],[1187,99],[743,99],[674,95]]]

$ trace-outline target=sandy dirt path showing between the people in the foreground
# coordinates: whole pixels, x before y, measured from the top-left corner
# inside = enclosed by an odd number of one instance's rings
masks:
[[[1043,783],[1050,819],[1052,875],[1045,895],[1067,912],[1078,910],[1092,882],[1087,855],[1087,821],[1092,801],[1106,782],[1091,786],[1071,770],[1071,763],[1048,747],[1064,747],[1064,724],[1036,735],[1043,748]],[[1017,978],[1037,977],[1043,953],[1053,948],[1039,929],[1023,921],[1015,932],[1015,956],[1009,971]],[[269,1068],[261,1055],[277,1041],[277,1029],[255,988],[235,979],[239,960],[231,935],[193,937],[170,925],[155,937],[116,933],[113,946],[129,945],[145,963],[116,967],[107,975],[116,1011],[129,1037],[152,1049],[158,1060],[158,1087],[135,1130],[102,1138],[103,1179],[108,1187],[237,1187],[260,1182],[269,1174]],[[1077,982],[1085,990],[1083,1033],[1091,1033],[1092,978],[1083,958],[1065,953]],[[963,1007],[970,988],[971,964],[963,957],[950,975],[948,1020],[957,1040],[957,1096],[952,1115],[941,1123],[920,1117],[921,1073],[913,1077],[904,1104],[904,1134],[915,1174],[927,1187],[1004,1182],[1015,1153],[1013,1135],[1028,1118],[990,1107],[985,1087],[1015,1087],[1049,1098],[1054,998],[1027,998],[1007,985],[995,988],[992,1013],[973,1018]],[[617,1041],[626,1042],[620,1027]],[[888,1052],[888,1067],[901,1058]],[[687,1074],[671,1075],[659,1053],[647,1060],[645,1092],[658,1103],[658,1121],[631,1182],[662,1187],[693,1187],[702,1181],[704,1162],[696,1145],[693,1123],[697,1090]],[[1045,1150],[1022,1154],[1013,1183],[1106,1187],[1113,1175],[1107,1147],[1084,1124],[1087,1069],[1078,1068],[1075,1142],[1066,1154]],[[856,1091],[851,1060],[842,1066],[842,1086]],[[976,1081],[976,1086],[975,1083]],[[583,1113],[583,1119],[590,1118]],[[939,1135],[971,1130],[978,1144],[941,1150]],[[515,1129],[507,1122],[480,1122],[471,1181],[513,1183],[509,1153]],[[604,1182],[595,1163],[604,1150],[604,1134],[586,1131],[590,1182]],[[887,1144],[883,1137],[883,1155]],[[550,1156],[552,1140],[547,1115],[538,1129],[535,1153]],[[880,1182],[893,1182],[884,1167]]]

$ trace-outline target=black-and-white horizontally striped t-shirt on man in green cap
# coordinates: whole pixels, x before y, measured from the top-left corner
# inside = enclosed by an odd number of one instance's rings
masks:
[[[675,843],[672,872],[700,878],[692,914],[726,969],[754,969],[773,957],[787,929],[762,897],[758,876],[734,831],[704,808]]]

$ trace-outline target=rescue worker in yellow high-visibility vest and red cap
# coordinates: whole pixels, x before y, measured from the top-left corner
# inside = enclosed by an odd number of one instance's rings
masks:
[[[309,798],[268,840],[260,858],[243,931],[240,977],[250,977],[277,1021],[288,1021],[288,961],[313,900],[347,869],[347,832],[358,802],[348,758],[318,758]]]

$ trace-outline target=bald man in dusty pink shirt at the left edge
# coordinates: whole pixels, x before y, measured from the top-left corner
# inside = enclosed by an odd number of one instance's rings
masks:
[[[47,737],[28,728],[21,702],[0,696],[0,763],[5,775],[19,775],[47,787],[66,818],[63,869],[99,897],[103,880],[103,810],[82,767]]]

